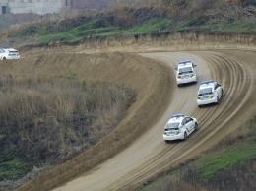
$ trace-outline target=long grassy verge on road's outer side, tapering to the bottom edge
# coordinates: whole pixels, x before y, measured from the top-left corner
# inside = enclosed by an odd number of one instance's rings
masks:
[[[247,165],[249,160],[256,159],[255,142],[240,142],[235,146],[219,145],[209,151],[204,157],[196,159],[175,170],[169,171],[158,180],[149,183],[141,191],[158,190],[169,182],[182,182],[189,178],[191,182],[205,183],[218,177],[222,172],[234,170],[243,165]],[[191,174],[193,174],[191,176]]]

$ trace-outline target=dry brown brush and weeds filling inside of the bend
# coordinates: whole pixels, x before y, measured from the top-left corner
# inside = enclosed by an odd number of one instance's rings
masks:
[[[121,86],[80,82],[74,73],[0,74],[0,190],[34,168],[49,168],[94,146],[135,97]]]

